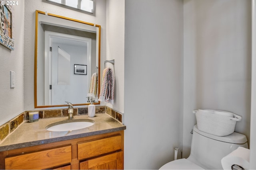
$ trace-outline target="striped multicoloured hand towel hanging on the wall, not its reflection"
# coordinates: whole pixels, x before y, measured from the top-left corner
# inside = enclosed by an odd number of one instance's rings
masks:
[[[115,77],[110,67],[105,68],[102,74],[102,85],[100,89],[99,101],[114,104],[114,84]]]

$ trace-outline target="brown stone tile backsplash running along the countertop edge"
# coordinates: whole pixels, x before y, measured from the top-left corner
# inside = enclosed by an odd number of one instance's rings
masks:
[[[52,110],[47,109],[47,110],[33,110],[33,111],[39,112],[39,119],[68,116],[68,109],[52,109]],[[73,111],[74,111],[74,115],[85,115],[85,114],[88,114],[88,107],[74,108]],[[10,133],[12,133],[12,131],[14,131],[24,121],[29,120],[29,116],[28,116],[29,112],[32,112],[32,111],[24,111],[14,119],[0,126],[0,142],[4,140]],[[114,119],[120,121],[120,123],[123,122],[122,113],[119,113],[118,111],[115,111],[107,106],[96,106],[95,113],[96,114],[107,113]]]

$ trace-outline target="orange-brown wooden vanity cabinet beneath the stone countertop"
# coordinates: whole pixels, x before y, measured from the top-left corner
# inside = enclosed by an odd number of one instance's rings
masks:
[[[124,131],[0,152],[0,169],[123,169]]]

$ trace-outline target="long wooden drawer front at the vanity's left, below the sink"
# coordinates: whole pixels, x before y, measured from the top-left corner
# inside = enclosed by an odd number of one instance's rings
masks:
[[[5,158],[6,169],[46,169],[68,164],[71,158],[71,145],[49,150],[42,150]]]

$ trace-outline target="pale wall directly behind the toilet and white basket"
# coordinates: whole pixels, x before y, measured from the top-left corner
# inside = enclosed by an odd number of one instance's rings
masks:
[[[250,139],[251,1],[184,0],[183,153],[190,152],[194,109],[242,116]]]

